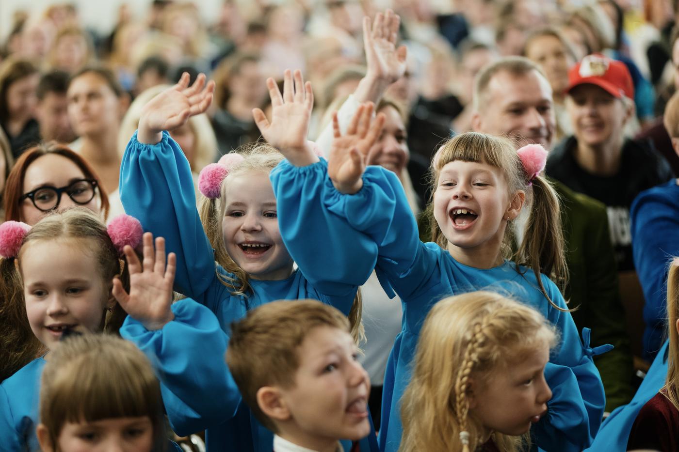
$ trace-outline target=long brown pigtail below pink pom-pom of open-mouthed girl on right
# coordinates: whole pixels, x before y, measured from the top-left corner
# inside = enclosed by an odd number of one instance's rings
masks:
[[[519,244],[513,260],[517,264],[517,271],[519,265],[533,270],[540,292],[553,307],[559,311],[568,311],[552,301],[540,278],[541,273],[547,275],[562,292],[568,283],[559,196],[543,176],[536,176],[532,181],[532,203],[524,240]]]

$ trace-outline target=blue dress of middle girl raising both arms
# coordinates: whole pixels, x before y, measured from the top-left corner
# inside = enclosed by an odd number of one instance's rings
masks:
[[[280,229],[285,222],[285,228],[294,231],[293,237],[283,238],[299,269],[285,280],[249,280],[252,291],[247,297],[232,294],[232,289],[217,278],[217,271],[227,277],[234,275],[215,265],[213,249],[196,210],[189,164],[167,132],[155,145],[139,143],[136,132],[132,136],[120,170],[120,198],[126,213],[139,219],[145,231],[164,237],[167,251],[177,254],[175,290],[208,307],[222,331],[229,331],[231,322],[243,318],[249,309],[280,299],[316,299],[346,315],[358,286],[375,267],[377,246],[346,222],[335,219],[334,214],[324,216],[327,212],[321,199],[329,187],[321,178],[306,177],[308,171],[308,167],[291,166],[277,179],[278,190],[274,185]],[[300,197],[306,202],[300,203]],[[280,219],[282,211],[289,212],[286,219]],[[297,220],[302,217],[313,221]],[[352,246],[328,240],[349,235],[353,237]],[[327,268],[334,270],[330,278]],[[240,398],[237,392],[233,396]],[[217,400],[214,402],[212,407],[200,407],[189,416],[181,414],[181,409],[168,409],[172,428],[180,435],[206,429],[210,450],[272,450],[272,432],[261,426],[244,402],[238,404],[235,413],[220,410]],[[362,445],[361,450],[377,450],[371,436],[366,439],[371,444]]]

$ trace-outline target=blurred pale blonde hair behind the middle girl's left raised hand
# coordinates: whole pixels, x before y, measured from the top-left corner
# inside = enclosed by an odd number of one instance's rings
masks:
[[[125,153],[125,148],[130,140],[130,136],[132,136],[134,130],[139,127],[139,119],[141,119],[141,111],[144,106],[151,99],[168,88],[171,88],[171,86],[153,86],[139,94],[139,96],[136,96],[134,102],[130,104],[130,108],[128,108],[128,111],[125,113],[120,124],[120,130],[118,131],[118,154],[121,158]],[[202,168],[215,162],[215,157],[217,157],[217,138],[210,125],[210,119],[208,119],[205,113],[189,117],[188,124],[196,137],[196,144],[194,145],[194,148],[196,149],[194,153],[194,162],[189,163],[191,164],[191,171],[198,174]]]

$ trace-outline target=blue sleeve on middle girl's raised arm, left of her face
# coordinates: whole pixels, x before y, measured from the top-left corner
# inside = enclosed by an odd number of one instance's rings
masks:
[[[175,290],[202,301],[217,280],[214,253],[196,209],[189,162],[168,132],[155,145],[139,143],[134,132],[120,166],[120,200],[177,255]]]

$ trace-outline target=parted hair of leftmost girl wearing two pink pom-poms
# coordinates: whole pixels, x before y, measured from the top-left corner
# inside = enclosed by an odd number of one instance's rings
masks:
[[[121,269],[123,261],[109,238],[106,226],[91,210],[82,207],[69,208],[63,212],[53,212],[41,219],[31,228],[24,238],[19,251],[18,262],[14,259],[0,259],[0,377],[6,378],[45,351],[31,331],[26,317],[26,304],[21,276],[21,254],[26,244],[37,241],[58,239],[84,241],[86,252],[96,257],[101,277],[111,284],[113,277],[120,274],[123,285],[129,288],[127,265]],[[55,269],[56,271],[57,269]],[[125,312],[115,303],[111,311],[102,312],[101,328],[109,333],[117,333],[125,320]]]

